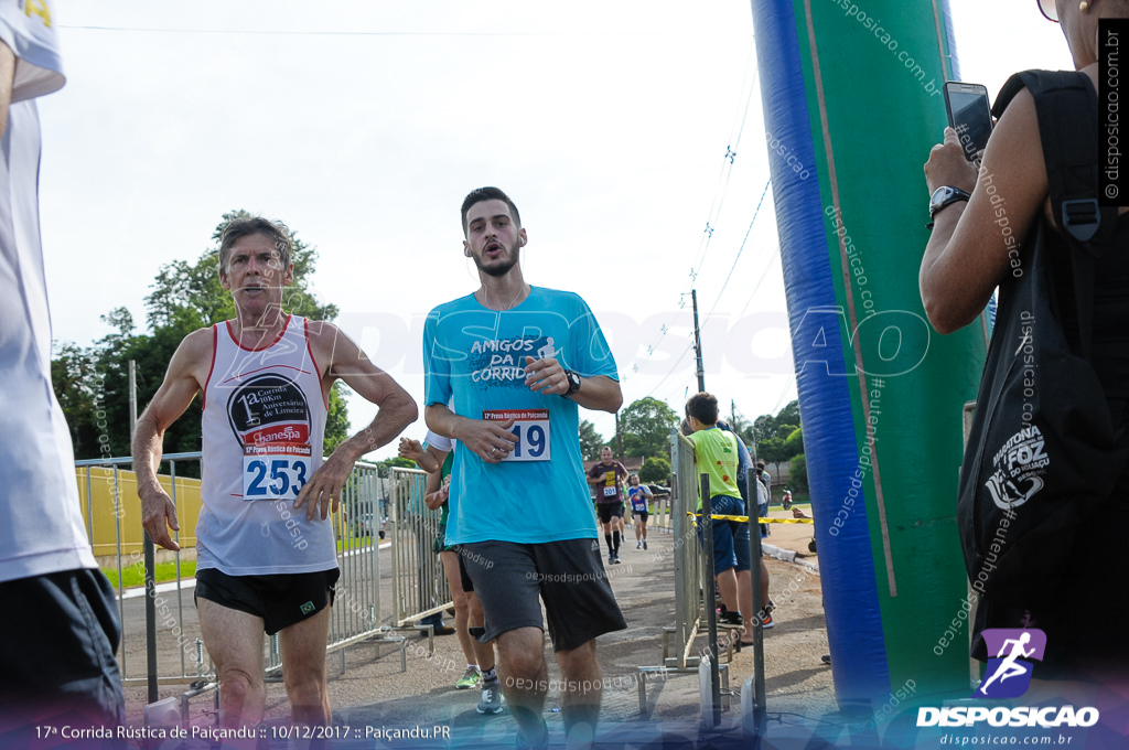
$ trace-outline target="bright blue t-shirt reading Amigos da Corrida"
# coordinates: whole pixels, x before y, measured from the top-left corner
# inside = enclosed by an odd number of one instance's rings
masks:
[[[555,356],[584,377],[619,380],[599,324],[570,291],[532,287],[520,305],[505,312],[487,309],[469,295],[428,315],[425,403],[452,403],[456,415],[470,419],[516,418],[520,437],[510,460],[498,464],[456,444],[448,544],[596,539],[578,407],[531,391],[527,356]]]

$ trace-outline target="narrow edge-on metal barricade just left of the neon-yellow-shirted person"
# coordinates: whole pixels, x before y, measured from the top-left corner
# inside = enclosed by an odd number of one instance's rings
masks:
[[[671,527],[674,532],[674,638],[679,669],[690,660],[694,636],[701,627],[702,564],[698,530],[689,513],[698,508],[698,466],[693,445],[671,430]]]

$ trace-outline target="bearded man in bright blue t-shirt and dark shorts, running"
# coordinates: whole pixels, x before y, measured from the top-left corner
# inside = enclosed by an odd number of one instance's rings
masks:
[[[584,300],[525,282],[527,235],[514,202],[475,190],[462,219],[481,286],[436,307],[423,329],[428,427],[458,441],[447,543],[461,546],[482,601],[483,639],[497,638],[518,747],[548,742],[539,598],[564,681],[564,726],[583,745],[599,714],[595,638],[627,623],[599,558],[577,405],[615,411],[623,396]]]

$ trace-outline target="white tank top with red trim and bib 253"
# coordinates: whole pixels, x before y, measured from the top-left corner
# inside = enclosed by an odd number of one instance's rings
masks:
[[[203,507],[196,567],[228,575],[313,573],[338,566],[330,520],[306,521],[294,500],[322,465],[326,403],[306,332],[291,315],[282,334],[245,349],[229,323],[212,326],[204,385]]]

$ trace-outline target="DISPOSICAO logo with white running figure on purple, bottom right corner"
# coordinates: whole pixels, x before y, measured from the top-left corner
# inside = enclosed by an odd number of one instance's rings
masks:
[[[1039,628],[992,628],[982,633],[989,654],[984,679],[972,692],[973,698],[1000,700],[1018,698],[1031,687],[1033,662],[1043,660],[1047,634]],[[1099,712],[1093,707],[1074,706],[945,706],[918,709],[918,726],[1093,726]]]

